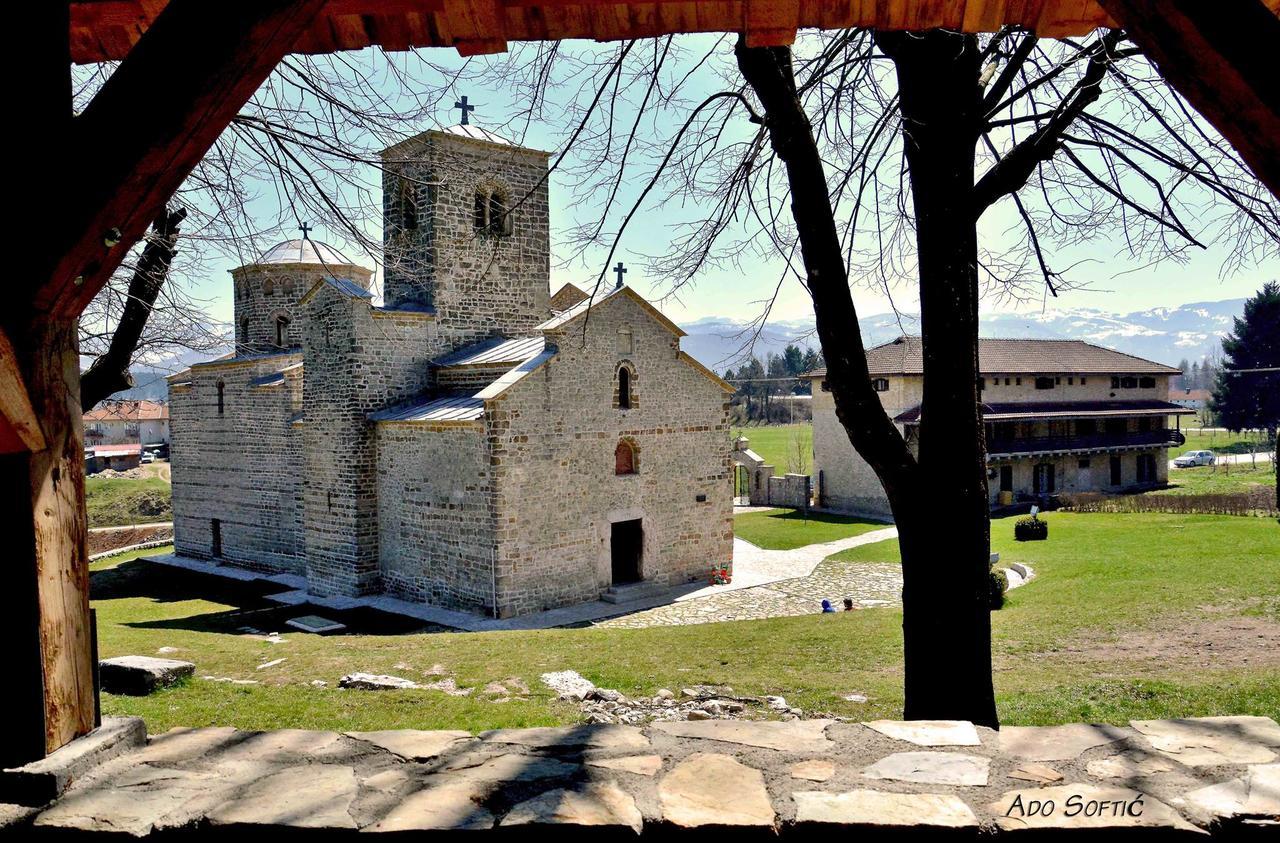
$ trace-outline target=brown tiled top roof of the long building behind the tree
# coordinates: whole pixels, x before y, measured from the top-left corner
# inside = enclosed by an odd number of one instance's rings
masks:
[[[867,368],[876,375],[922,375],[919,336],[899,336],[867,349]],[[978,370],[984,375],[1178,375],[1180,370],[1079,339],[979,339]],[[809,372],[822,377],[827,370]]]

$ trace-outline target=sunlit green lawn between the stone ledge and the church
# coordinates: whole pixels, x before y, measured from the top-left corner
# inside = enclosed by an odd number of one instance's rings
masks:
[[[993,615],[996,688],[1007,724],[1210,714],[1280,715],[1280,527],[1231,517],[1051,513],[1050,540],[1014,542],[993,523],[1004,560],[1037,579]],[[814,528],[819,526],[815,523]],[[892,560],[895,542],[840,554]],[[940,559],[940,564],[946,564]],[[579,670],[628,695],[695,683],[781,693],[805,711],[860,719],[901,714],[901,613],[864,609],[650,629],[431,633],[361,628],[320,637],[293,632],[282,610],[243,585],[129,558],[95,565],[93,605],[104,656],[155,654],[196,661],[197,678],[148,697],[104,695],[105,714],[173,725],[330,729],[463,728],[573,723],[579,711],[538,682]],[[284,643],[239,632],[282,631]],[[264,666],[284,659],[273,666]],[[340,691],[349,672],[442,691]],[[232,684],[198,677],[234,678]],[[493,702],[490,682],[518,677],[531,693]],[[315,681],[325,682],[316,687]],[[841,697],[863,693],[867,704]]]

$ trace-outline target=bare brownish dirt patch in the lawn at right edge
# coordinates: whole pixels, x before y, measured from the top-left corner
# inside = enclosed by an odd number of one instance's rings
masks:
[[[1115,637],[1080,637],[1050,658],[1103,664],[1138,661],[1164,668],[1280,668],[1280,623],[1268,618],[1169,618]]]

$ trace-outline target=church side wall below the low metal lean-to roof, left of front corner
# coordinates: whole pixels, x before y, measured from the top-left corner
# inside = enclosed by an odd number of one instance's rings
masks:
[[[492,610],[493,484],[483,423],[376,427],[384,590],[413,603]]]

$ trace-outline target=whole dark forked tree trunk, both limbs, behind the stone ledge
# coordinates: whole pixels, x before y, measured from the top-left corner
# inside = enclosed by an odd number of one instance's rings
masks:
[[[942,56],[950,59],[945,68],[922,63],[919,73],[913,74],[913,109],[916,100],[924,100],[915,96],[914,88],[929,82],[925,77],[931,72],[952,74],[933,79],[941,92],[932,102],[922,102],[937,114],[916,109],[919,113],[908,118],[909,132],[915,128],[911,120],[931,120],[919,173],[911,162],[913,184],[937,180],[927,183],[923,193],[916,192],[916,214],[925,217],[918,220],[925,336],[924,413],[925,418],[932,417],[932,423],[924,422],[922,427],[922,440],[931,441],[922,441],[919,462],[872,389],[826,173],[813,128],[796,96],[791,54],[783,47],[746,47],[740,40],[737,63],[764,107],[769,141],[786,165],[791,212],[836,414],[854,448],[883,484],[899,526],[905,715],[966,719],[996,727],[986,601],[989,516],[977,404],[977,229],[970,209],[977,133],[975,123],[955,123],[955,109],[970,114],[978,101],[978,74],[968,68],[977,64],[977,58],[975,52],[966,55],[957,50],[955,38],[948,40],[947,52],[942,38],[910,37],[937,45],[928,54],[934,64]],[[957,73],[968,77],[952,78]],[[956,88],[964,90],[966,97],[950,105],[942,102],[945,97],[955,97]],[[904,95],[904,111],[905,100]],[[934,122],[942,118],[950,123]]]

